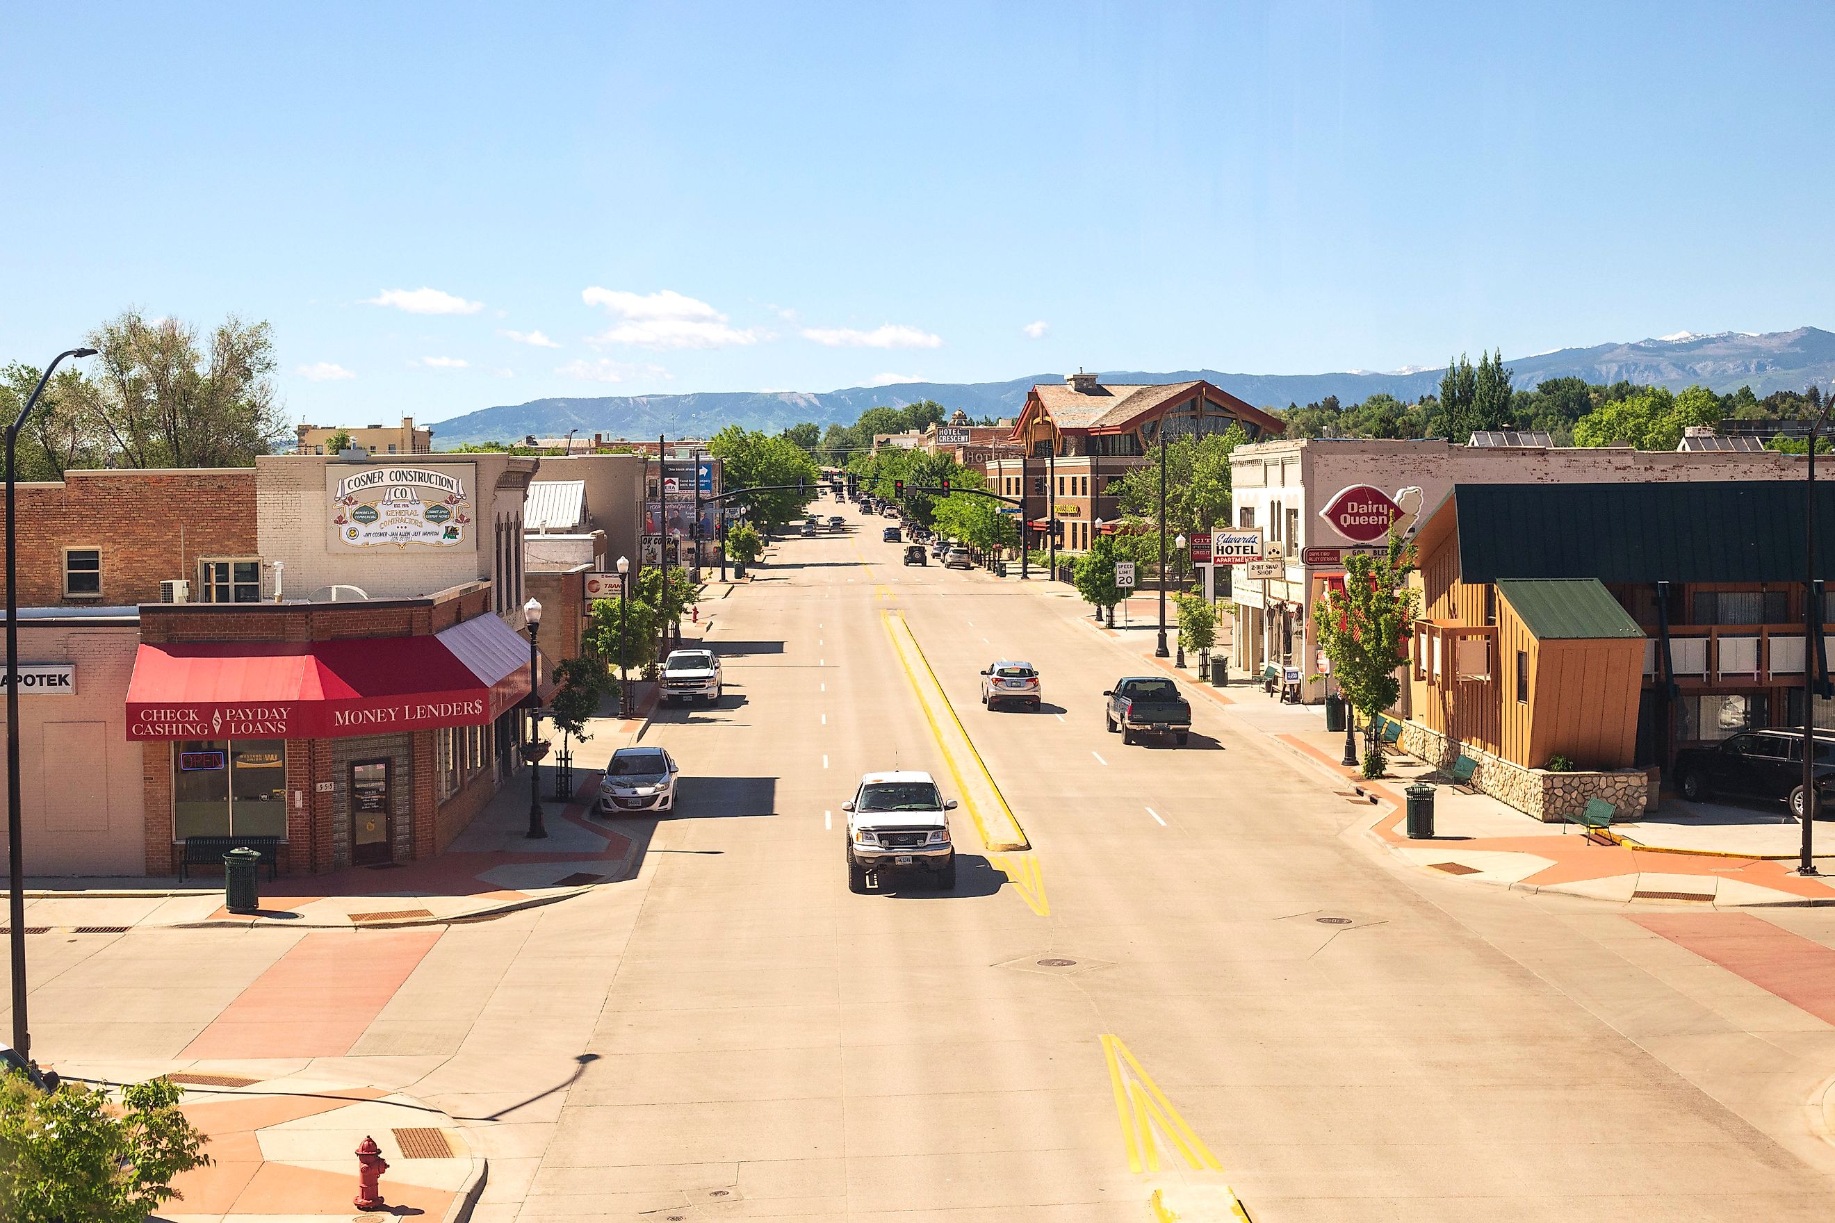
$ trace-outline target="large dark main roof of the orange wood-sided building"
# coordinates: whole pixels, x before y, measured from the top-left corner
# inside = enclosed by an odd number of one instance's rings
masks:
[[[1802,581],[1804,480],[1457,484],[1459,576]],[[1817,578],[1835,578],[1835,480],[1817,480]]]

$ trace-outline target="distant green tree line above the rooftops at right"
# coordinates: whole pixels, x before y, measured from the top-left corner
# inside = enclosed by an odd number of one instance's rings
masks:
[[[1318,438],[1448,438],[1464,442],[1485,429],[1547,433],[1556,446],[1615,446],[1675,449],[1688,425],[1721,425],[1729,420],[1804,420],[1820,411],[1822,392],[1773,391],[1765,398],[1740,387],[1725,394],[1707,387],[1668,391],[1631,381],[1611,385],[1582,378],[1551,378],[1538,387],[1512,387],[1512,370],[1501,354],[1464,356],[1448,361],[1439,394],[1404,403],[1391,394],[1373,394],[1343,405],[1336,396],[1316,403],[1273,409],[1286,422],[1286,436]],[[1778,449],[1793,449],[1789,440]],[[1795,444],[1802,451],[1802,442]]]

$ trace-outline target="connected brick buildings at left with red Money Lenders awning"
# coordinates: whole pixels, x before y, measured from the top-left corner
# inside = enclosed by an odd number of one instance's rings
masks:
[[[286,875],[446,849],[525,768],[534,469],[275,455],[20,486],[26,873],[169,876],[222,836],[272,838]]]

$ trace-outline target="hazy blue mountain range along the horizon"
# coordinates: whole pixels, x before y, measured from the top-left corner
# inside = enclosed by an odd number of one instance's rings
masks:
[[[1584,378],[1591,383],[1635,381],[1679,391],[1692,383],[1714,391],[1752,387],[1758,396],[1802,391],[1835,380],[1835,334],[1815,326],[1793,332],[1681,332],[1661,339],[1606,343],[1591,348],[1560,348],[1507,359],[1514,385],[1534,387],[1549,378]],[[1373,394],[1417,400],[1440,385],[1440,369],[1407,369],[1391,374],[1347,370],[1341,374],[1224,374],[1220,370],[1105,370],[1105,383],[1187,381],[1204,378],[1259,407],[1308,403],[1329,394],[1358,403]],[[776,433],[813,420],[818,425],[853,424],[868,407],[903,407],[936,400],[969,416],[1015,416],[1026,392],[1039,381],[1062,381],[1062,374],[1031,374],[1011,381],[906,381],[844,391],[725,391],[699,394],[635,394],[584,400],[530,400],[486,407],[435,422],[435,447],[468,442],[514,442],[527,435],[562,436],[569,429],[617,438],[708,436],[730,424]]]

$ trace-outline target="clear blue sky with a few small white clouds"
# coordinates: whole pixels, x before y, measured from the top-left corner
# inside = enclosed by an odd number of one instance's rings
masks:
[[[6,50],[0,359],[233,312],[321,424],[1835,326],[1828,4],[15,6]]]

